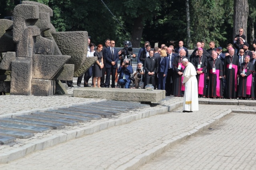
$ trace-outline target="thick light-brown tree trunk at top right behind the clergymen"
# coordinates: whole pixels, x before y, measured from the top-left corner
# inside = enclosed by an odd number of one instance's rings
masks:
[[[239,33],[239,28],[243,28],[244,35],[247,35],[248,14],[248,0],[234,0],[233,38]]]

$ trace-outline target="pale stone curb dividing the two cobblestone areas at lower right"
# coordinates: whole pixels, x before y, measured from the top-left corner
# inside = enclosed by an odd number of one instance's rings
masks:
[[[215,123],[218,123],[221,119],[223,119],[226,115],[230,114],[231,112],[232,112],[231,109],[228,109],[228,110],[224,111],[223,113],[220,113],[220,115],[214,117],[214,119],[210,119],[207,122],[202,123],[201,125],[199,125],[197,127],[194,127],[194,129],[192,129],[188,132],[182,133],[180,135],[172,137],[171,139],[163,141],[160,145],[153,147],[152,149],[149,149],[146,152],[132,158],[125,164],[119,166],[117,169],[118,170],[138,169],[138,167],[144,165],[145,163],[147,163],[149,160],[151,160],[155,156],[162,154],[162,152],[173,147],[177,143],[180,143],[180,142],[186,140],[188,137],[191,137],[193,135],[200,133],[204,129],[208,129],[210,126],[214,125]]]

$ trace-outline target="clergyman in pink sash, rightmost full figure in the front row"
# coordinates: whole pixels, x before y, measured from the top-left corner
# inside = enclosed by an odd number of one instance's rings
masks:
[[[239,84],[238,84],[238,95],[240,99],[249,98],[254,99],[254,86],[252,73],[254,72],[254,66],[250,61],[250,56],[245,57],[245,62],[241,64],[239,68]]]

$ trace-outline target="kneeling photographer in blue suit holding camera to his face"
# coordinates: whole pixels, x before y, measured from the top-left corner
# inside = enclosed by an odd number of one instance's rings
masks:
[[[131,74],[133,72],[132,66],[130,66],[128,59],[124,59],[122,65],[118,68],[117,73],[119,73],[118,83],[121,88],[130,88]]]

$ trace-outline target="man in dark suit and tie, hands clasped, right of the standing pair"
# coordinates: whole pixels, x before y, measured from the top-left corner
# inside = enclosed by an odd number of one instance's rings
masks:
[[[110,86],[110,74],[112,76],[112,84],[111,87],[115,88],[115,76],[116,76],[116,68],[117,62],[119,59],[119,54],[121,51],[117,51],[114,49],[115,41],[110,41],[110,47],[104,51],[104,57],[106,59],[106,80],[105,80],[105,87],[108,88]]]

